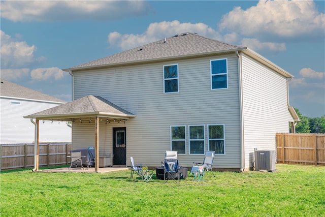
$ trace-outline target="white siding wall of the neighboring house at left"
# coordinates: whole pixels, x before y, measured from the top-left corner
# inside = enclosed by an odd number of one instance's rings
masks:
[[[20,104],[11,104],[17,102]],[[35,142],[35,125],[23,116],[33,114],[61,103],[35,102],[14,98],[1,98],[1,144]],[[34,119],[35,121],[35,119]],[[71,128],[66,122],[40,121],[40,142],[71,142]]]

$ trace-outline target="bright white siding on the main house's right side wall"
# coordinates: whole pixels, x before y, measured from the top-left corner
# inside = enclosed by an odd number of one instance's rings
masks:
[[[249,56],[242,57],[245,167],[252,167],[254,148],[275,150],[275,133],[289,132],[286,78]]]

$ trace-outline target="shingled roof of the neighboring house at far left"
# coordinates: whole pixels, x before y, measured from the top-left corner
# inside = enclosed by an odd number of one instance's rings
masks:
[[[64,100],[60,100],[56,97],[52,97],[34,89],[12,83],[1,79],[0,83],[0,96],[6,98],[17,98],[17,99],[29,99],[35,101],[47,101],[56,103],[66,103]]]

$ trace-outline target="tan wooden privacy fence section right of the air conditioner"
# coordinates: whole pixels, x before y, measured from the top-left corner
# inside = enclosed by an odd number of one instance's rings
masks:
[[[276,134],[277,163],[325,166],[325,134]]]

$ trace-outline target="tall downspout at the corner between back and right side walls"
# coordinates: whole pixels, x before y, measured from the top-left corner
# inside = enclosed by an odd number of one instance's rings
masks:
[[[245,170],[245,140],[244,140],[244,121],[243,121],[243,77],[242,77],[242,65],[241,65],[241,55],[242,53],[238,53],[236,50],[236,56],[238,57],[238,89],[239,89],[239,115],[240,115],[240,172]]]

